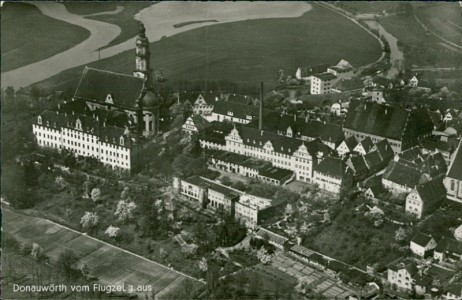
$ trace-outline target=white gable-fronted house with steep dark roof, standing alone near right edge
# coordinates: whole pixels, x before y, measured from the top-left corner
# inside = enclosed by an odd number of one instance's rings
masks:
[[[446,188],[441,178],[417,185],[406,197],[405,210],[418,219],[435,211],[446,198]]]

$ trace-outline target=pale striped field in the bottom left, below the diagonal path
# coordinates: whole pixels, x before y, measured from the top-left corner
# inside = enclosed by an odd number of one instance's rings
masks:
[[[44,219],[3,210],[3,230],[19,241],[38,243],[53,262],[65,249],[77,253],[90,267],[91,276],[105,284],[151,285],[156,298],[181,288],[191,279],[147,259],[65,229]],[[144,294],[141,293],[140,295]]]

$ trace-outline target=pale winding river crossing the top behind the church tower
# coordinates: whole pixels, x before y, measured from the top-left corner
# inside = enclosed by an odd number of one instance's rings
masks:
[[[121,32],[113,24],[87,19],[68,12],[62,3],[30,2],[46,16],[68,22],[90,31],[90,37],[82,43],[30,65],[2,73],[2,85],[16,89],[45,80],[64,70],[105,59],[135,46],[135,37],[123,43],[97,51],[108,45]],[[228,23],[262,18],[296,18],[311,10],[306,2],[179,2],[165,1],[141,10],[135,19],[146,27],[150,42],[184,31],[210,26],[209,23],[192,23],[175,28],[183,22],[213,19]],[[217,23],[214,23],[217,24]]]

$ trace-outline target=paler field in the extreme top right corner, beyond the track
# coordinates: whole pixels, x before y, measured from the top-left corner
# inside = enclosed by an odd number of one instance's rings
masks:
[[[433,32],[462,46],[462,23],[456,2],[426,3],[415,9],[419,19]]]

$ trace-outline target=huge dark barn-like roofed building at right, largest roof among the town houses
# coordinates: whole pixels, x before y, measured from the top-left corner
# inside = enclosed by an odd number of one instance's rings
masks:
[[[366,137],[377,143],[387,139],[395,153],[417,145],[430,136],[433,123],[426,109],[407,110],[402,107],[352,100],[343,124],[346,137],[358,141]]]

